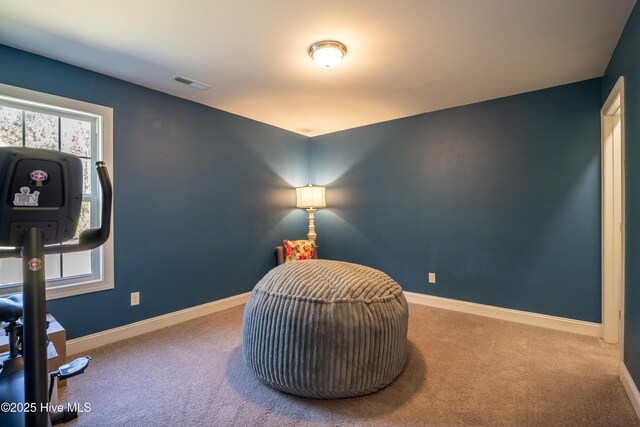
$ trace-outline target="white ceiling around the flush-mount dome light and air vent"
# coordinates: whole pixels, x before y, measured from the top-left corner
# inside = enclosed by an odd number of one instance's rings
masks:
[[[601,76],[633,4],[3,1],[0,43],[314,136]],[[307,56],[323,39],[337,68]]]

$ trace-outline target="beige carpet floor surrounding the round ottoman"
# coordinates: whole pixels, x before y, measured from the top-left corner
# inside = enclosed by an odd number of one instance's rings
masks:
[[[78,426],[640,426],[618,349],[596,338],[410,304],[410,358],[386,389],[320,401],[261,384],[243,307],[90,352],[61,398]]]

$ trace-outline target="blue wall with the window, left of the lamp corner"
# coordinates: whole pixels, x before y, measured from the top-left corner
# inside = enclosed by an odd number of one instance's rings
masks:
[[[0,82],[114,109],[116,287],[48,303],[69,338],[249,291],[304,236],[306,137],[2,45]]]

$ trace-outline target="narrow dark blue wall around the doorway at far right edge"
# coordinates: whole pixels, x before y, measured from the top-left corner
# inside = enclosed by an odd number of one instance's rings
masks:
[[[625,86],[626,271],[624,363],[640,386],[640,8],[636,5],[605,71],[602,102],[620,76]]]

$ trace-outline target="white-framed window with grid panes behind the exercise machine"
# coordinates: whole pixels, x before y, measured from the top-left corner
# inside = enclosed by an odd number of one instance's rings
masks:
[[[111,108],[0,84],[0,147],[58,150],[81,158],[83,196],[78,230],[100,225],[95,162],[113,177]],[[113,288],[113,238],[100,248],[45,258],[47,299]],[[19,258],[0,259],[0,295],[21,291]]]

